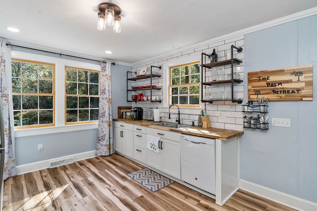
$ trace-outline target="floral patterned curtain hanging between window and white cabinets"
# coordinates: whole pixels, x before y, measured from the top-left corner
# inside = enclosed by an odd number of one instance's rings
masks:
[[[99,122],[96,156],[107,156],[113,153],[110,66],[110,61],[101,62],[98,116]]]

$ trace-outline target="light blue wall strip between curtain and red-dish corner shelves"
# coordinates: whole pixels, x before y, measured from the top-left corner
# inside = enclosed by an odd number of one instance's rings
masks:
[[[131,66],[111,65],[112,118],[118,118],[118,106],[131,106],[127,102],[127,71]]]

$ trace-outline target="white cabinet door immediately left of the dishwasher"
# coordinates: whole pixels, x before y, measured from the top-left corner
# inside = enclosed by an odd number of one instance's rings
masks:
[[[162,167],[161,170],[180,179],[180,146],[179,142],[161,139]]]

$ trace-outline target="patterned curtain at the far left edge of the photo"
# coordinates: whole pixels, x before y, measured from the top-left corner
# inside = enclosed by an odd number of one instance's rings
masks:
[[[14,158],[14,122],[11,87],[11,49],[1,41],[1,102],[4,129],[4,169],[3,179],[17,175]],[[1,128],[2,132],[2,128]],[[1,134],[3,138],[3,135]]]

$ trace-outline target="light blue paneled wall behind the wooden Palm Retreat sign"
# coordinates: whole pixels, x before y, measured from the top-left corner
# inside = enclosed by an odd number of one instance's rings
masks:
[[[317,15],[245,36],[248,72],[314,65],[317,93]],[[247,81],[244,99],[247,99]],[[271,118],[291,119],[291,128],[245,129],[240,141],[240,178],[317,202],[317,100],[268,103]]]

